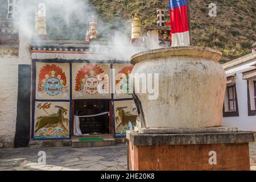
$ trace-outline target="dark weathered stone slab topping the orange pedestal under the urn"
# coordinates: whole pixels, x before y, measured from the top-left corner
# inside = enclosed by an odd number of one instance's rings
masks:
[[[134,146],[168,146],[181,144],[217,144],[254,142],[254,134],[238,133],[196,133],[196,134],[140,134],[126,132],[126,138]]]

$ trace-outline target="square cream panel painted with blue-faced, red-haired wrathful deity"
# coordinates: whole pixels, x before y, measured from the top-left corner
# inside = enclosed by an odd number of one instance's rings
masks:
[[[36,98],[69,100],[69,64],[36,63]]]

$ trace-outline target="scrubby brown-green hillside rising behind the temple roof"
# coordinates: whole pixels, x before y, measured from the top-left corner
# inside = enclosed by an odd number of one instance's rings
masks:
[[[37,0],[33,1],[35,3]],[[86,0],[81,0],[86,1]],[[168,0],[88,0],[104,21],[99,27],[117,30],[130,28],[133,13],[142,15],[142,28],[156,23],[156,8],[168,9]],[[0,0],[0,16],[6,15],[7,0]],[[41,1],[40,1],[41,2]],[[209,17],[209,3],[217,4],[217,17]],[[222,51],[222,63],[251,52],[251,45],[256,40],[256,0],[191,0],[192,43],[194,46],[206,46]],[[47,13],[48,35],[53,40],[82,40],[87,21],[81,22],[77,15],[69,17],[69,25],[65,24],[63,14]],[[55,14],[53,14],[55,13]],[[50,14],[50,15],[49,15]],[[56,17],[55,17],[56,16]],[[34,17],[34,15],[32,16]],[[88,16],[87,16],[88,17]],[[54,21],[52,21],[54,20]],[[168,21],[168,13],[166,22]],[[105,23],[105,24],[104,24]],[[121,26],[120,26],[121,24]],[[126,28],[125,34],[130,30]],[[128,30],[127,30],[128,29]],[[100,30],[102,40],[111,36],[111,32]],[[69,36],[66,36],[69,35]]]

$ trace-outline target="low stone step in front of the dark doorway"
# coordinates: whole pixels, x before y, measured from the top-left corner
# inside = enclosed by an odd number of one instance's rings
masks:
[[[103,146],[115,146],[115,139],[114,138],[102,138],[102,140],[93,140],[92,139],[92,140],[86,140],[86,141],[81,141],[79,139],[72,139],[72,148],[103,147]]]

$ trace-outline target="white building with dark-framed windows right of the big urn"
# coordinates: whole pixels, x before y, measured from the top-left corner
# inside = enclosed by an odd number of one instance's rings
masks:
[[[256,131],[256,52],[223,67],[227,76],[223,125]]]

